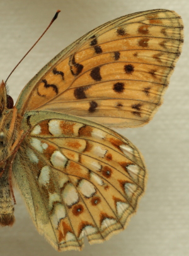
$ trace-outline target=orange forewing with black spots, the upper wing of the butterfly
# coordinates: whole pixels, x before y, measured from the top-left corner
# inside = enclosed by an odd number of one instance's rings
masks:
[[[50,61],[23,90],[18,109],[74,114],[108,126],[144,125],[161,105],[182,30],[180,16],[161,9],[110,21]]]

